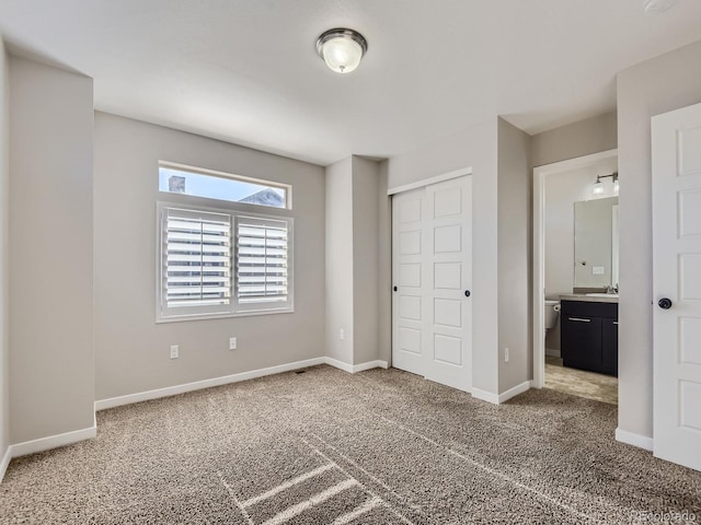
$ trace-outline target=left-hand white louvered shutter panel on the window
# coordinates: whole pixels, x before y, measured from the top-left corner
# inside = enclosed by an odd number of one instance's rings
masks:
[[[162,307],[169,315],[218,313],[231,302],[231,215],[165,208]]]

